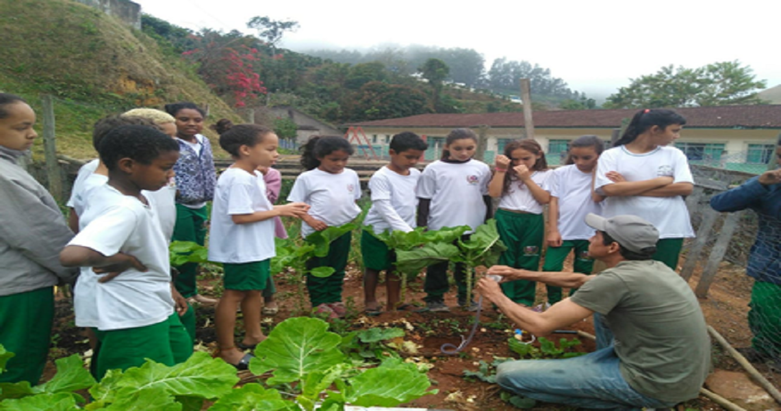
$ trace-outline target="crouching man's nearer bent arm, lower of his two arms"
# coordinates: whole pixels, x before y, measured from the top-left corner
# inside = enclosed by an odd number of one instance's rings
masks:
[[[501,291],[499,284],[490,278],[480,279],[476,290],[496,304],[519,328],[537,336],[549,335],[559,328],[568,327],[594,314],[594,311],[573,303],[569,298],[555,303],[544,313],[537,313],[513,302]]]

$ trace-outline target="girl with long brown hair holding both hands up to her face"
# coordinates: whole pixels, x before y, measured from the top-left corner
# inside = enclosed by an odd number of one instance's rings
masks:
[[[512,141],[505,146],[505,154],[497,156],[488,193],[500,198],[496,226],[507,250],[501,253],[499,264],[531,271],[540,268],[542,212],[551,202],[546,182],[552,174],[540,143],[534,140]],[[513,302],[533,306],[537,283],[503,282],[501,289]]]

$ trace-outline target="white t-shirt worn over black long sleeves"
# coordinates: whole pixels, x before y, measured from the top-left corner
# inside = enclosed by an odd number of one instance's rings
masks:
[[[474,232],[486,218],[483,196],[488,194],[490,168],[483,161],[446,163],[441,160],[427,165],[420,175],[417,196],[431,200],[428,228],[469,225]]]

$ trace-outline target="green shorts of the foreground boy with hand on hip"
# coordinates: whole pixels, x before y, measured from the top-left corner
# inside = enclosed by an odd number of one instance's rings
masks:
[[[100,380],[107,370],[141,367],[146,359],[167,366],[184,363],[193,353],[193,340],[174,312],[166,320],[144,327],[100,331],[91,370]]]

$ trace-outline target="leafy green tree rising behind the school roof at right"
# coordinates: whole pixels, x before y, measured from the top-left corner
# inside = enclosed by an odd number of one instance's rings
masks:
[[[716,62],[697,69],[670,66],[632,79],[610,95],[604,108],[700,107],[761,104],[757,93],[765,80],[755,80],[749,66]]]

